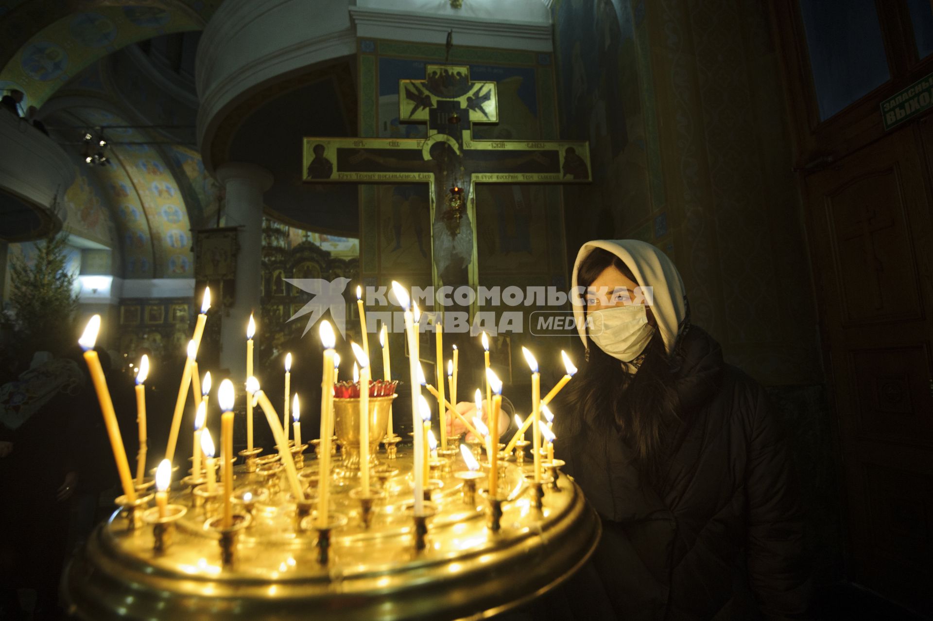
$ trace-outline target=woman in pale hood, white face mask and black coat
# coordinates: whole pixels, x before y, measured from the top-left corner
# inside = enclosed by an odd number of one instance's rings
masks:
[[[787,442],[764,390],[690,324],[674,263],[593,241],[573,286],[586,362],[554,408],[555,448],[604,534],[569,605],[536,617],[810,618]]]

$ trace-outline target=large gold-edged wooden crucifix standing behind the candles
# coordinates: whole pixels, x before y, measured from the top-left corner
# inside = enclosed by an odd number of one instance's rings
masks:
[[[479,285],[477,183],[592,180],[585,141],[474,140],[472,123],[498,122],[498,101],[495,82],[471,81],[468,66],[427,64],[398,93],[399,120],[426,122],[427,138],[306,137],[304,180],[429,184],[435,289]]]

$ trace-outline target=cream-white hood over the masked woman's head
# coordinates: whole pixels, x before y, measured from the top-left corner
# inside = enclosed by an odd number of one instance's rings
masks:
[[[603,248],[619,257],[635,277],[641,287],[653,288],[654,300],[651,312],[658,322],[658,330],[664,340],[664,348],[670,354],[674,350],[680,323],[687,315],[687,296],[684,293],[684,281],[667,255],[657,247],[637,239],[596,239],[580,247],[577,261],[574,262],[572,290],[578,287],[577,274],[580,263],[596,248]],[[587,347],[586,323],[582,303],[585,294],[572,295],[574,318],[577,320],[577,332],[583,346]]]

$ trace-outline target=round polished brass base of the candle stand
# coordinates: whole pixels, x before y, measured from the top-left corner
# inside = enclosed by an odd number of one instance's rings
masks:
[[[434,515],[418,520],[411,512],[411,452],[388,463],[393,472],[384,481],[373,472],[384,496],[372,501],[369,528],[351,493],[357,477],[331,473],[327,528],[317,529],[313,512],[296,523],[299,507],[284,471],[248,473],[243,464],[235,467],[233,510],[241,517],[233,529],[216,529],[223,510],[217,497],[208,515],[188,509],[175,520],[171,544],[154,554],[151,531],[128,531],[123,510],[115,512],[65,572],[68,610],[93,621],[479,619],[559,584],[599,540],[599,519],[568,477],[560,477],[559,492],[542,490],[542,511],[528,511],[534,486],[514,462],[502,463],[502,515],[493,531],[487,502],[464,502],[457,474],[466,465],[459,456],[453,473],[441,468],[432,503],[425,503]],[[305,471],[316,467],[314,461]],[[251,508],[243,501],[247,491]],[[191,496],[180,488],[169,502],[190,506]],[[205,528],[208,520],[215,528]],[[416,549],[419,541],[424,547]],[[536,559],[534,572],[529,557]]]

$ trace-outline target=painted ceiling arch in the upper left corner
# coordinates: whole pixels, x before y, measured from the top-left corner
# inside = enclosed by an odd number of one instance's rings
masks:
[[[202,29],[219,3],[4,3],[0,5],[0,88],[25,92],[24,106],[42,106],[81,69],[116,49],[157,35]]]

